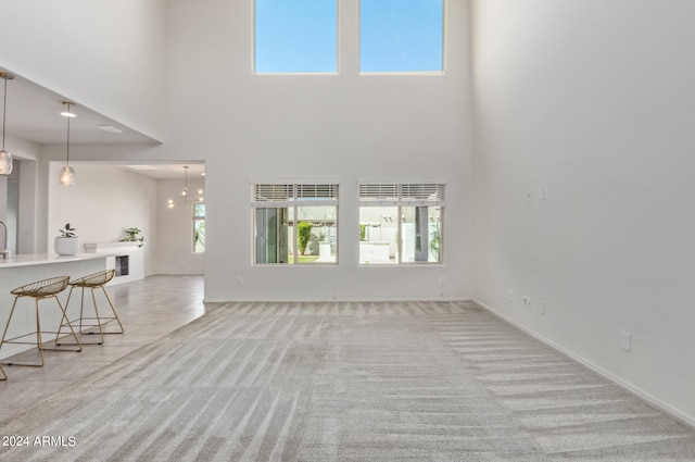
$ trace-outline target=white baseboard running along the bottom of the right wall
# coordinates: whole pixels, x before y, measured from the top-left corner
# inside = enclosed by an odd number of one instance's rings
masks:
[[[542,336],[541,334],[536,333],[535,330],[532,330],[532,329],[528,328],[527,326],[514,321],[513,319],[506,316],[505,314],[503,314],[502,312],[495,310],[494,308],[481,302],[480,300],[472,299],[472,302],[478,304],[478,305],[480,305],[480,307],[482,307],[483,309],[485,309],[490,313],[494,314],[495,316],[500,317],[501,320],[511,324],[513,326],[517,327],[518,329],[523,330],[525,333],[527,333],[530,336],[532,336],[533,338],[542,341],[543,344],[547,345],[548,347],[553,348],[554,350],[557,350],[560,353],[563,353],[563,354],[571,358],[572,360],[581,363],[582,365],[589,367],[590,370],[592,370],[593,372],[597,373],[602,377],[612,382],[614,384],[616,384],[619,387],[623,388],[624,390],[631,392],[632,395],[637,396],[640,399],[642,399],[642,400],[648,402],[649,404],[652,404],[653,407],[666,412],[667,414],[671,415],[672,417],[677,419],[678,421],[682,422],[683,424],[692,426],[692,427],[695,427],[695,417],[694,416],[687,415],[687,414],[679,411],[678,409],[672,408],[671,405],[665,403],[664,401],[661,401],[657,397],[644,391],[640,387],[635,387],[634,385],[630,384],[629,382],[626,382],[626,380],[621,379],[620,377],[618,377],[618,376],[611,374],[610,372],[597,366],[596,364],[592,363],[591,361],[586,360],[585,358],[582,358],[581,355],[574,353],[573,351],[570,351],[570,350],[566,349],[561,345],[558,345],[558,344],[554,342],[553,340]]]

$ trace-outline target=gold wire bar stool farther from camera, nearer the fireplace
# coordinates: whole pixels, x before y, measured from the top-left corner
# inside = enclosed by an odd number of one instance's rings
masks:
[[[104,335],[124,333],[123,324],[121,324],[118,314],[116,313],[115,308],[113,308],[111,298],[109,298],[109,294],[106,294],[106,289],[104,288],[104,285],[111,279],[113,279],[113,276],[115,275],[115,273],[116,273],[115,270],[100,271],[99,273],[90,274],[88,276],[80,277],[79,279],[73,279],[68,283],[71,287],[70,287],[70,294],[67,296],[67,302],[65,303],[66,309],[70,305],[70,300],[71,300],[71,297],[73,296],[73,289],[75,287],[79,287],[83,289],[81,300],[79,303],[79,317],[74,321],[66,320],[66,323],[63,326],[61,326],[61,328],[65,326],[75,325],[75,327],[77,328],[77,333],[80,336],[83,336],[83,335],[97,334],[97,332],[92,329],[93,327],[97,327],[99,329],[98,333],[101,341],[92,342],[92,345],[93,344],[102,345],[104,342]],[[85,288],[88,288],[91,290],[91,300],[94,309],[94,316],[92,317],[85,315]],[[111,313],[106,313],[106,315],[103,315],[103,313],[99,312],[99,307],[97,305],[97,298],[94,297],[96,289],[101,289],[104,292],[104,296],[106,297],[106,301],[109,302],[109,307],[111,308]],[[104,332],[103,327],[113,321],[118,323],[119,330]],[[85,329],[88,329],[88,330],[85,330]],[[65,345],[65,344],[62,344],[62,345]],[[89,344],[83,341],[81,345],[89,345]]]

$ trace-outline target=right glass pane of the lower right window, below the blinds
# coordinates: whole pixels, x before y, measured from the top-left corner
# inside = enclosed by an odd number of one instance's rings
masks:
[[[441,207],[401,208],[401,261],[441,261]]]

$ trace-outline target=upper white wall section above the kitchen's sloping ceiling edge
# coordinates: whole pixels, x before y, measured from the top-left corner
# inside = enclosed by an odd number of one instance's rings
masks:
[[[163,139],[166,0],[0,0],[0,64]]]

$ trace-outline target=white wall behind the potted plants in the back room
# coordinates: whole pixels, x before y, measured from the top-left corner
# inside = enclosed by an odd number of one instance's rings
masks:
[[[144,236],[144,274],[154,274],[157,249],[157,180],[113,165],[71,163],[75,184],[60,185],[60,162],[50,165],[49,252],[59,230],[70,223],[77,228],[80,251],[90,242],[113,242],[125,237],[124,229],[137,227]]]

